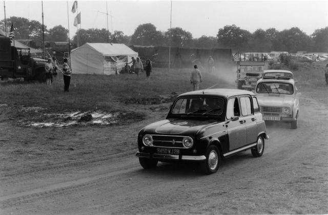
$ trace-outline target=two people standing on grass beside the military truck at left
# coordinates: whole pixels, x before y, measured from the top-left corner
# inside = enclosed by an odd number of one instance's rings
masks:
[[[47,85],[51,85],[51,82],[53,80],[53,74],[57,74],[57,70],[59,70],[61,73],[63,73],[64,77],[64,92],[69,92],[69,86],[71,82],[71,74],[72,70],[70,66],[68,65],[68,59],[64,59],[63,68],[59,69],[59,63],[56,59],[56,57],[49,57],[48,61],[45,65],[46,70],[46,83]]]

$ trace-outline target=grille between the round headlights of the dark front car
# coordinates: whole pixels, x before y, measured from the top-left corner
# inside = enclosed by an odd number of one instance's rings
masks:
[[[152,135],[153,145],[158,147],[185,148],[181,136]],[[174,141],[173,141],[174,140]]]

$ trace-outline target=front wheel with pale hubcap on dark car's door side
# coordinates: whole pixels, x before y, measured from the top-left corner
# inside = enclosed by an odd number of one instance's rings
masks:
[[[220,150],[215,145],[210,145],[206,151],[206,160],[201,162],[201,171],[210,175],[216,173],[220,165]]]

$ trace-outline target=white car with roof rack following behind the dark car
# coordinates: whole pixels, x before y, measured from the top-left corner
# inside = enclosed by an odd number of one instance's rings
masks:
[[[287,70],[266,70],[257,81],[255,94],[265,121],[291,123],[296,129],[299,116],[299,93]]]

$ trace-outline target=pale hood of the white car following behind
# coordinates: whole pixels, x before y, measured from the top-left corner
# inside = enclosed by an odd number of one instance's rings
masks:
[[[294,103],[294,99],[291,96],[286,95],[257,95],[257,101],[260,106],[291,106]]]

